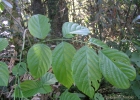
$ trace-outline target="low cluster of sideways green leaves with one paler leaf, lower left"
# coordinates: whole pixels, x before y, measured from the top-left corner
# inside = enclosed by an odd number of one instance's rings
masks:
[[[23,98],[31,97],[37,93],[46,94],[52,91],[50,85],[55,84],[55,82],[57,82],[55,76],[48,72],[43,75],[39,81],[26,80],[20,83],[21,89],[16,86],[13,95],[15,95],[15,97]]]

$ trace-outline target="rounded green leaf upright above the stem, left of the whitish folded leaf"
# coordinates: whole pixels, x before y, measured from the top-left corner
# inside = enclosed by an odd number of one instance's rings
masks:
[[[44,39],[50,32],[49,19],[40,14],[33,15],[28,21],[28,29],[34,37]]]

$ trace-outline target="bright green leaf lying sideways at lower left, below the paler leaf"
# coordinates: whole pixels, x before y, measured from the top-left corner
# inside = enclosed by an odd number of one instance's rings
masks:
[[[41,81],[26,80],[20,84],[24,97],[31,97],[37,93],[51,92],[51,86],[42,84]]]

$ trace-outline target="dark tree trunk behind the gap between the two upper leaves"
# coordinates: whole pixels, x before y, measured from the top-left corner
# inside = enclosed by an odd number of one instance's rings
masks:
[[[53,37],[62,36],[62,25],[68,21],[68,8],[65,0],[48,0],[48,16],[51,20]]]

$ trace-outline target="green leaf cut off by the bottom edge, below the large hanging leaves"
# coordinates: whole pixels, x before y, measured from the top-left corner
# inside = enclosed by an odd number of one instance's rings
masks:
[[[78,97],[78,95],[76,95],[75,93],[69,93],[67,90],[62,93],[62,95],[60,96],[60,100],[80,100],[80,98]]]

